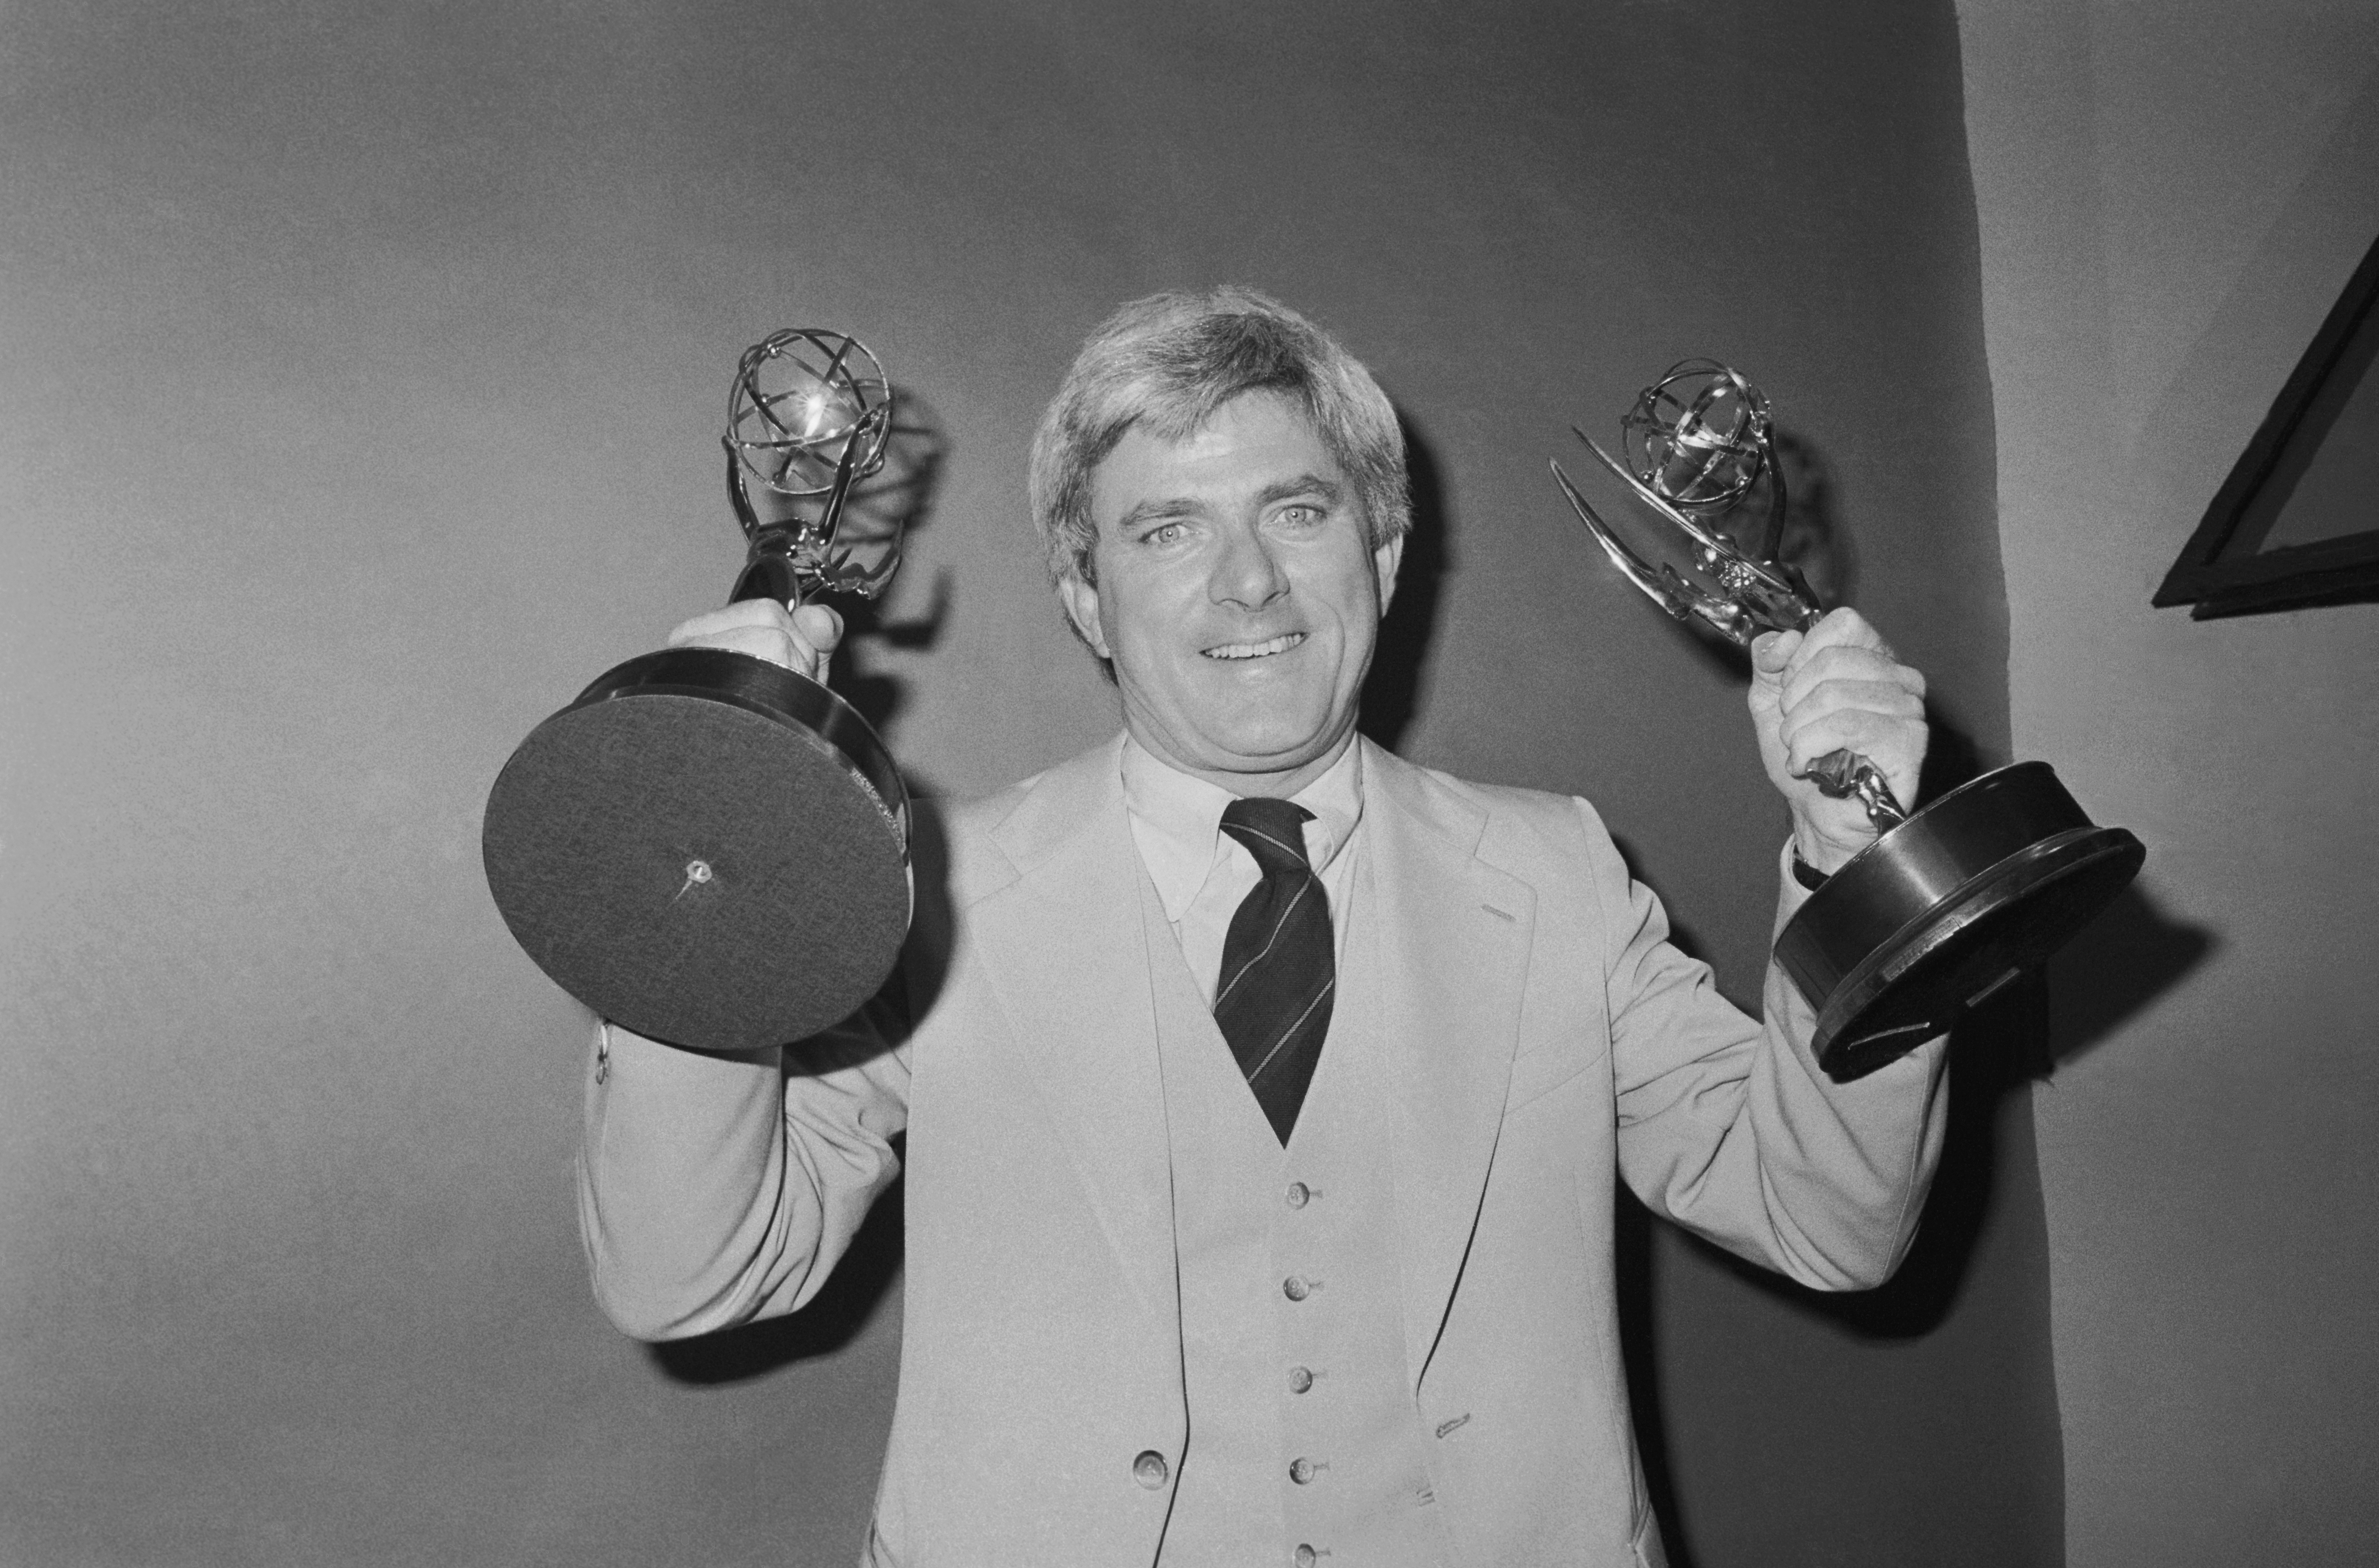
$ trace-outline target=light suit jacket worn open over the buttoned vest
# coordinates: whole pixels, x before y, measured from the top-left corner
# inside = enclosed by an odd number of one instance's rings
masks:
[[[1368,742],[1366,742],[1368,745]],[[1406,1373],[1463,1563],[1656,1563],[1613,1297],[1613,1175],[1827,1290],[1884,1280],[1941,1142],[1941,1047],[1853,1085],[1668,945],[1582,799],[1370,749]],[[792,1311],[909,1130],[878,1563],[1151,1563],[1187,1432],[1142,866],[1104,745],[949,816],[914,1026],[695,1056],[609,1030],[588,1095],[597,1294],[640,1337]],[[1803,897],[1782,878],[1779,918]],[[933,899],[923,909],[935,909]]]

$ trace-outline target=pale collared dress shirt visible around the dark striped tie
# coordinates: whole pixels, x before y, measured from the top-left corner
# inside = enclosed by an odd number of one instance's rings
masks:
[[[1137,740],[1123,742],[1123,809],[1140,845],[1140,864],[1156,883],[1156,897],[1206,1006],[1213,1006],[1230,916],[1263,878],[1256,857],[1223,833],[1223,807],[1232,799],[1230,790],[1182,773]],[[1363,826],[1363,747],[1349,742],[1320,778],[1289,799],[1313,814],[1306,823],[1306,861],[1330,897],[1330,937],[1344,968],[1356,828]]]

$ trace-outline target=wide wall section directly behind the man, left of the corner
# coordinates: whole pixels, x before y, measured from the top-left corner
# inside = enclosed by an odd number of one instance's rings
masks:
[[[723,595],[718,404],[768,328],[859,331],[949,435],[892,604],[947,583],[940,638],[845,671],[925,788],[1113,728],[1023,447],[1111,305],[1218,278],[1411,416],[1401,749],[1592,795],[1734,995],[1782,809],[1739,671],[1549,488],[1570,419],[1684,352],[1756,374],[1948,759],[2005,754],[1946,0],[50,0],[0,19],[0,117],[5,1561],[856,1551],[897,1230],[811,1323],[619,1340],[569,1199],[585,1021],[478,873],[511,745]],[[1627,1230],[1680,1556],[2055,1561],[2005,1080],[1960,1066],[1879,1297]]]

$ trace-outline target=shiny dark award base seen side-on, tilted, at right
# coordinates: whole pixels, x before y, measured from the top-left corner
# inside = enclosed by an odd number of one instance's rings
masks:
[[[2148,859],[2046,761],[1975,778],[1841,866],[1784,923],[1777,964],[1818,1009],[1818,1064],[1863,1078],[2039,966]]]

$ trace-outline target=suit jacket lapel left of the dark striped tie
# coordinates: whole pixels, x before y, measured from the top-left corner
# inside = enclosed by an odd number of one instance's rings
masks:
[[[1044,773],[992,840],[1018,878],[966,911],[968,940],[1132,1294],[1178,1323],[1151,954],[1118,745]]]

